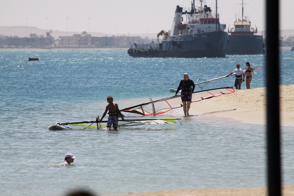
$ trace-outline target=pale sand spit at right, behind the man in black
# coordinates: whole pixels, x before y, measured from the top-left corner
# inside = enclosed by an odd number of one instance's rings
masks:
[[[280,123],[294,124],[294,85],[280,86]],[[235,93],[191,104],[190,114],[218,115],[246,122],[266,122],[266,88]]]

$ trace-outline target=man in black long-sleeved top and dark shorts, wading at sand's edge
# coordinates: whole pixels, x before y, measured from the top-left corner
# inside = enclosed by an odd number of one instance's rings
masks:
[[[179,87],[177,88],[174,97],[181,90],[181,99],[183,102],[184,115],[189,116],[189,109],[192,101],[192,94],[195,89],[193,80],[189,79],[188,73],[184,73],[184,79],[180,81]]]

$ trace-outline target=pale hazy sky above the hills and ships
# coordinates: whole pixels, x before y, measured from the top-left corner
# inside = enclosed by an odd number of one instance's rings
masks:
[[[197,7],[199,1],[195,1]],[[266,29],[265,2],[244,0],[244,15],[259,32]],[[241,3],[218,0],[221,24],[233,26],[242,13]],[[203,4],[215,10],[215,0],[204,0]],[[191,7],[191,0],[1,0],[0,26],[125,35],[158,33],[171,29],[176,5]],[[294,29],[294,0],[280,0],[280,10],[280,29]]]

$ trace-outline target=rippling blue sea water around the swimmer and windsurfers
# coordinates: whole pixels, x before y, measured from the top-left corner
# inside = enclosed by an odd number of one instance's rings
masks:
[[[126,51],[0,52],[1,195],[62,196],[77,187],[106,195],[266,186],[263,123],[207,115],[183,119],[182,125],[119,132],[48,130],[56,122],[102,116],[109,95],[122,109],[172,96],[169,89],[178,86],[183,73],[195,82],[212,79],[232,72],[237,63],[245,69],[246,61],[263,67],[253,74],[251,88],[265,87],[263,55],[178,59],[132,58]],[[281,63],[281,84],[294,84],[293,51],[281,50]],[[204,89],[233,84],[227,77]],[[162,117],[182,118],[182,110]],[[294,184],[293,129],[282,126],[283,184]],[[77,157],[73,165],[47,166],[61,163],[67,152]]]

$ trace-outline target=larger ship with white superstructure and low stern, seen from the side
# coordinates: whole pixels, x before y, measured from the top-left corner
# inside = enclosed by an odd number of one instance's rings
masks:
[[[217,1],[215,15],[202,3],[203,0],[199,0],[197,8],[195,0],[191,8],[177,5],[171,30],[161,30],[156,43],[134,43],[128,54],[132,57],[225,57],[228,33],[226,25],[220,24]]]

